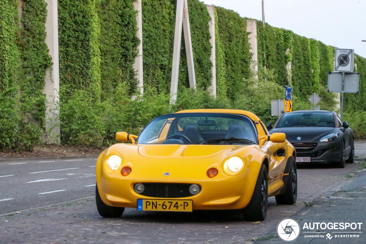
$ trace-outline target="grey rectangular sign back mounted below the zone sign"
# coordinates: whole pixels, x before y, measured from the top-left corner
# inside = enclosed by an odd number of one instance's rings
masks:
[[[344,89],[342,89],[343,74],[328,72],[328,92],[358,93],[360,74],[356,72],[344,73]]]

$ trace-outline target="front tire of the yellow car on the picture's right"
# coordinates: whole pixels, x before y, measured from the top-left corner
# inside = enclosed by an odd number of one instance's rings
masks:
[[[268,176],[267,168],[262,164],[257,182],[249,204],[242,209],[244,220],[263,221],[267,215],[268,205]]]

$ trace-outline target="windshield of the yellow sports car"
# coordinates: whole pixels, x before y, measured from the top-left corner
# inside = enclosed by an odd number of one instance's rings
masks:
[[[247,145],[257,144],[257,133],[251,119],[243,115],[178,113],[153,119],[138,143]]]

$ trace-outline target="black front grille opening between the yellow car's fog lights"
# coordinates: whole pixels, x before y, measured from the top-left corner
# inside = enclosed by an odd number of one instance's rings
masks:
[[[189,192],[191,184],[184,183],[143,183],[145,191],[140,195],[159,198],[179,198],[193,196]]]

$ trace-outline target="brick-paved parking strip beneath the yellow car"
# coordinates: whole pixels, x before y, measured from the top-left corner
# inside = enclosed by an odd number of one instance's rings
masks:
[[[347,164],[345,169],[298,169],[296,206],[276,205],[271,197],[265,221],[255,225],[242,221],[242,215],[234,210],[164,213],[126,208],[121,218],[106,219],[100,217],[91,197],[13,216],[0,215],[0,243],[250,243],[251,238],[302,209],[303,201],[311,202],[345,185],[356,173],[357,163]]]

